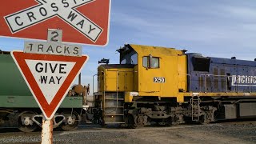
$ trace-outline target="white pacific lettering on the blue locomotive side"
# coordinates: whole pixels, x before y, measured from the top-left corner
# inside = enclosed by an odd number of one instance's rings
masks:
[[[232,86],[256,86],[256,76],[232,75]]]

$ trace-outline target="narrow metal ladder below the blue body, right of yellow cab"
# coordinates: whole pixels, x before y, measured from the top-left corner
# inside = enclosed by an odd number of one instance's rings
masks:
[[[193,96],[190,99],[190,105],[192,121],[198,122],[200,119],[200,98],[197,96]]]

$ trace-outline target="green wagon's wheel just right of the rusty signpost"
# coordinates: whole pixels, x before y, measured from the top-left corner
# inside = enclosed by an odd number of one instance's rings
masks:
[[[73,111],[72,114],[71,111],[65,111],[62,114],[66,117],[66,122],[62,124],[62,130],[72,131],[78,128],[81,117],[76,111]]]

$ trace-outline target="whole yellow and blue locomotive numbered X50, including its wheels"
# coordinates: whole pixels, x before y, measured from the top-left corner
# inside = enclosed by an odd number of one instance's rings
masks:
[[[131,44],[118,52],[119,64],[98,66],[97,122],[137,127],[256,116],[254,61]]]

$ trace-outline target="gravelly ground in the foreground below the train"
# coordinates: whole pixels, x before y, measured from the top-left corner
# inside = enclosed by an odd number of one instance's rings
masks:
[[[41,131],[0,130],[0,143],[40,143]],[[11,131],[13,130],[13,131]],[[256,122],[218,122],[208,125],[146,126],[126,129],[81,125],[74,131],[54,130],[54,143],[255,143]]]

